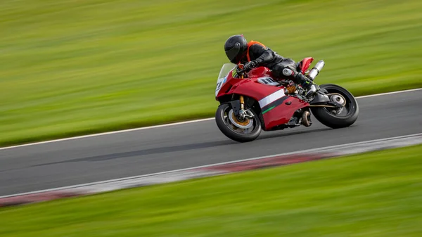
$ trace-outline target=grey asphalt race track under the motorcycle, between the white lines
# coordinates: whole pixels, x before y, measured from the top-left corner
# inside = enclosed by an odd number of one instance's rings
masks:
[[[358,98],[345,129],[263,132],[236,143],[214,120],[0,150],[0,196],[422,132],[422,90]]]

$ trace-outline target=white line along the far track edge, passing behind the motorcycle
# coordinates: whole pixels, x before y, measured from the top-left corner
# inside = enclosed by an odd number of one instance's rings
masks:
[[[391,95],[391,94],[407,93],[407,92],[419,91],[419,90],[422,90],[422,88],[409,89],[409,90],[404,90],[404,91],[393,91],[393,92],[373,94],[373,95],[368,95],[368,96],[358,96],[356,98],[368,98],[368,97],[373,97],[373,96],[387,96],[387,95]],[[138,128],[134,128],[134,129],[125,129],[125,130],[118,130],[118,131],[113,131],[113,132],[103,132],[103,133],[99,133],[99,134],[89,134],[89,135],[84,135],[84,136],[73,136],[73,137],[68,137],[68,138],[65,138],[65,139],[56,139],[56,140],[50,140],[50,141],[39,141],[39,142],[35,142],[35,143],[27,143],[27,144],[22,144],[22,145],[17,145],[17,146],[6,146],[6,147],[3,147],[3,148],[0,148],[0,150],[6,150],[6,149],[11,149],[11,148],[20,148],[20,147],[23,147],[23,146],[35,146],[35,145],[41,145],[41,144],[45,144],[45,143],[53,143],[53,142],[58,142],[58,141],[85,139],[85,138],[89,138],[89,137],[93,137],[93,136],[104,136],[104,135],[110,135],[110,134],[120,134],[120,133],[124,133],[124,132],[134,132],[134,131],[139,131],[139,130],[144,130],[144,129],[155,129],[155,128],[160,128],[160,127],[170,127],[170,126],[176,126],[176,125],[181,125],[181,124],[189,124],[189,123],[193,123],[193,122],[204,122],[204,121],[209,121],[209,120],[214,120],[214,117],[209,117],[209,118],[205,118],[205,119],[202,119],[202,120],[190,120],[190,121],[185,121],[185,122],[175,122],[175,123],[171,123],[171,124],[162,124],[162,125],[155,125],[155,126],[150,126],[150,127],[138,127]]]

